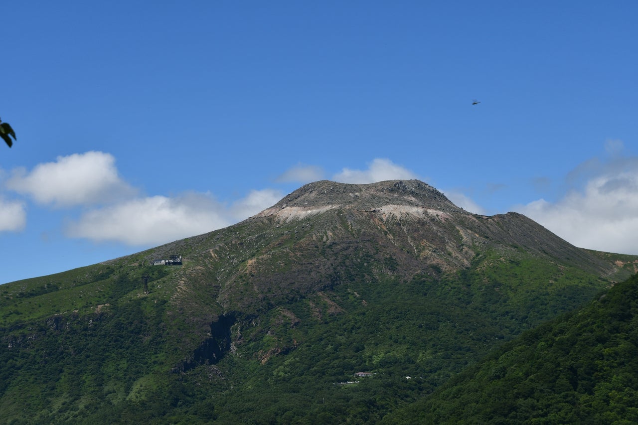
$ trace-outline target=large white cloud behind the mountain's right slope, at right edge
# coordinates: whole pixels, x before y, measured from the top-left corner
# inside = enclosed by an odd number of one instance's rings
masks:
[[[516,211],[581,248],[638,254],[638,167],[628,169],[631,162],[591,177],[556,203],[540,199]]]

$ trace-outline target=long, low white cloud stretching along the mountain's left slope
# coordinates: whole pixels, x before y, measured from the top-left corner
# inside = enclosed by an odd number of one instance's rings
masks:
[[[208,194],[136,198],[94,209],[66,227],[66,235],[129,245],[162,244],[244,220],[279,200],[276,191],[251,191],[230,207]]]

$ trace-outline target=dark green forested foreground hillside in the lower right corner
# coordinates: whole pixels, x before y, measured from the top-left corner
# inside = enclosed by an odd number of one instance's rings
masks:
[[[489,355],[384,423],[638,423],[638,276]]]

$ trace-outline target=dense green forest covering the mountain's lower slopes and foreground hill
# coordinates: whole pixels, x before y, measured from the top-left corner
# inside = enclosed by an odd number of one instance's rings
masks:
[[[175,341],[189,338],[188,315],[159,289],[177,267],[89,267],[76,286],[5,291],[0,410],[13,424],[630,417],[635,278],[607,294],[591,274],[523,254],[485,267],[497,255],[411,280],[353,269],[263,315],[225,315],[186,357]],[[52,302],[78,308],[47,315]]]

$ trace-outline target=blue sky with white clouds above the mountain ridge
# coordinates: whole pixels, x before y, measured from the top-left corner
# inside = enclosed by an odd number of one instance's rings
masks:
[[[318,179],[417,178],[638,254],[637,19],[635,1],[5,4],[0,283]]]

